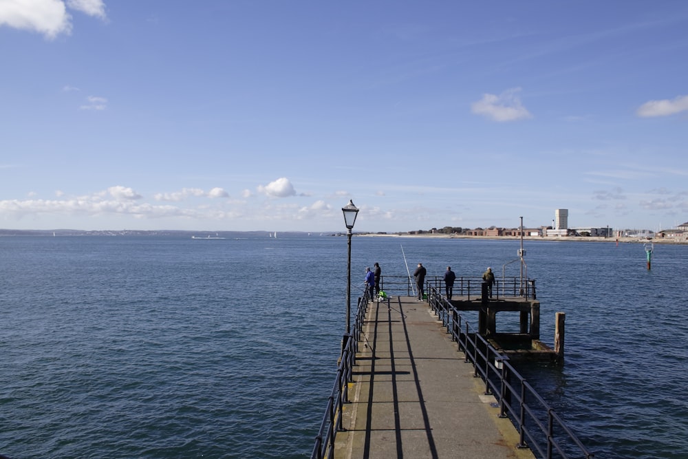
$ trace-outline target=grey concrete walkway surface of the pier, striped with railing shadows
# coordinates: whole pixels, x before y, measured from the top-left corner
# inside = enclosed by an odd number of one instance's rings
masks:
[[[372,303],[334,457],[533,458],[426,301]]]

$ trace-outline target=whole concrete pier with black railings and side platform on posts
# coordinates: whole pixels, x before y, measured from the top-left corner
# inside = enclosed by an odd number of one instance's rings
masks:
[[[451,301],[439,279],[420,301],[398,286],[358,299],[312,458],[594,457],[512,365],[560,364],[563,315],[555,351],[539,341],[534,281],[502,279],[488,298],[482,282],[457,280]],[[517,331],[498,332],[497,314],[515,315]]]

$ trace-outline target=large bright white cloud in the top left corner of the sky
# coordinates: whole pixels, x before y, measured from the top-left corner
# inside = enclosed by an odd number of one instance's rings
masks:
[[[66,6],[61,0],[2,0],[0,26],[38,32],[52,40],[60,34],[72,33],[72,16],[67,7],[105,19],[103,0],[67,0]]]

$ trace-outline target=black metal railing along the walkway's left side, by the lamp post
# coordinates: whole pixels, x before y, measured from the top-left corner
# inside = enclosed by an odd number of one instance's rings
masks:
[[[337,375],[332,393],[327,399],[325,416],[323,416],[318,436],[315,438],[315,447],[311,454],[312,459],[334,458],[334,440],[337,432],[343,431],[342,408],[345,403],[349,403],[349,383],[353,381],[352,372],[354,365],[356,365],[358,341],[361,340],[368,301],[367,292],[364,292],[363,297],[358,297],[353,332],[352,334],[345,334],[342,339],[342,354],[337,367]]]

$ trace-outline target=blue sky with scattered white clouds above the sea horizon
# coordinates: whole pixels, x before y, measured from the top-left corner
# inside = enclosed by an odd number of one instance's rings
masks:
[[[0,228],[671,228],[685,1],[0,0]]]

